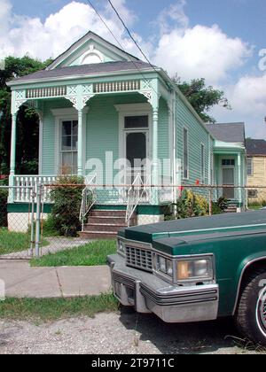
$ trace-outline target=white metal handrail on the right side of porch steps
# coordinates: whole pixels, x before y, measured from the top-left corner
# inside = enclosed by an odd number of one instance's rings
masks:
[[[137,174],[128,192],[128,205],[126,212],[126,223],[128,226],[130,226],[130,220],[137,209],[137,205],[141,202],[144,192],[145,188],[143,179],[141,174]]]

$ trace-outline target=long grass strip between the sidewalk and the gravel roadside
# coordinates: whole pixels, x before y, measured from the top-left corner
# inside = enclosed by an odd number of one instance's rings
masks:
[[[6,298],[0,302],[0,319],[47,322],[74,316],[93,317],[115,312],[118,307],[111,293],[82,298]]]

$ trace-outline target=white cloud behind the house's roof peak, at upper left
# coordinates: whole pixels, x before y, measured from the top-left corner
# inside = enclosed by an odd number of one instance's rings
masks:
[[[4,18],[7,13],[11,14],[11,3],[9,0],[0,0],[1,6],[2,3],[4,7],[0,8],[0,17],[3,14]],[[135,19],[134,14],[127,10],[124,0],[115,0],[113,4],[126,20]],[[136,52],[134,43],[124,35],[123,27],[110,8],[105,9],[103,18],[122,46],[129,52]],[[3,35],[0,34],[0,55],[3,57],[29,54],[40,59],[55,58],[89,30],[115,43],[90,6],[76,1],[66,4],[43,22],[40,18],[12,14],[12,24],[9,26]]]

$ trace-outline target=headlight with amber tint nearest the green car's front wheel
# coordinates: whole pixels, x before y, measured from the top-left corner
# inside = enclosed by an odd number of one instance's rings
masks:
[[[190,279],[213,278],[212,260],[180,260],[176,262],[176,279],[178,281]]]

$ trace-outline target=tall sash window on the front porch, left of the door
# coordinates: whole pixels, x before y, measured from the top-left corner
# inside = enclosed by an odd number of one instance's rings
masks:
[[[62,121],[61,173],[77,174],[78,121]]]

